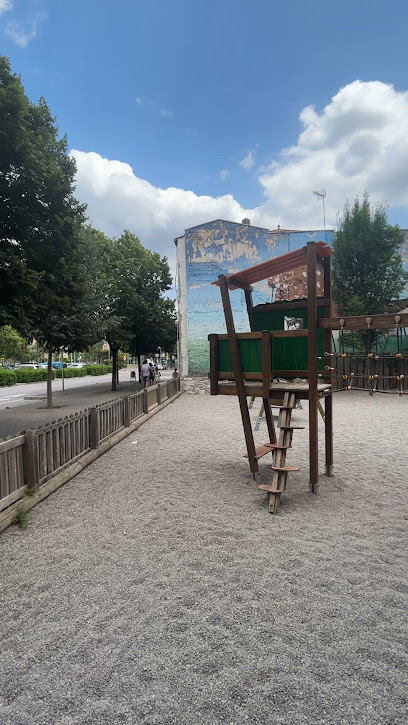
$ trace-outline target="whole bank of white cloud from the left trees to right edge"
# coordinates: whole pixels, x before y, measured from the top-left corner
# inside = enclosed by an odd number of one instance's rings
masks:
[[[231,194],[213,197],[161,189],[122,161],[73,151],[77,196],[88,204],[91,222],[102,231],[119,235],[128,228],[170,257],[175,236],[216,218],[240,222],[247,216],[252,224],[269,229],[278,224],[322,228],[316,189],[327,193],[327,226],[335,224],[346,199],[366,189],[373,201],[408,209],[408,93],[378,81],[355,81],[320,112],[304,108],[300,123],[297,142],[259,172],[264,198],[255,209],[245,209]]]

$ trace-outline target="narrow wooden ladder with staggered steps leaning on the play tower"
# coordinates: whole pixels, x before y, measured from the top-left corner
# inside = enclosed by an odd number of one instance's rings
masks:
[[[260,484],[258,486],[261,491],[266,491],[268,494],[269,511],[272,514],[277,514],[279,511],[280,497],[286,488],[288,473],[300,470],[297,466],[285,466],[286,452],[288,448],[292,447],[293,431],[304,428],[303,425],[291,425],[292,411],[295,405],[295,393],[285,393],[278,417],[278,428],[280,428],[279,440],[273,448],[271,446],[271,467],[273,470],[272,483]]]

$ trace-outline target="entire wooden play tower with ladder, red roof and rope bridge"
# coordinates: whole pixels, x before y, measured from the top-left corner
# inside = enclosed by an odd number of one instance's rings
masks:
[[[408,326],[408,314],[384,314],[371,317],[331,317],[330,257],[332,249],[324,242],[309,242],[306,247],[289,252],[228,277],[220,275],[213,282],[220,287],[224,308],[226,335],[209,335],[210,390],[212,395],[236,395],[239,400],[247,457],[253,478],[269,496],[269,511],[277,513],[280,497],[286,488],[288,473],[299,470],[286,466],[286,453],[292,447],[294,431],[292,410],[299,400],[309,401],[309,485],[318,492],[318,411],[324,414],[326,475],[333,471],[333,382],[338,377],[337,360],[347,362],[347,353],[333,352],[332,333],[340,331],[340,340],[347,330],[372,331]],[[306,264],[307,299],[274,302],[253,306],[251,284],[274,275],[298,269]],[[230,301],[230,290],[242,289],[245,294],[250,332],[236,333]],[[344,340],[344,337],[343,337]],[[397,357],[398,356],[398,357]],[[350,354],[350,361],[356,356]],[[378,360],[376,360],[378,357]],[[367,360],[374,364],[380,355],[367,350]],[[398,348],[398,364],[406,362]],[[328,364],[335,361],[335,365]],[[372,362],[373,361],[373,362]],[[341,368],[343,369],[343,368]],[[342,372],[346,389],[352,389],[347,372]],[[369,391],[378,391],[380,377],[370,374]],[[345,376],[345,377],[343,377]],[[402,377],[401,377],[402,376]],[[384,376],[382,376],[384,377]],[[398,390],[404,393],[404,373],[398,372]],[[284,380],[280,380],[284,378]],[[293,382],[294,378],[307,382]],[[274,382],[276,381],[277,382]],[[247,397],[262,398],[269,440],[255,448]],[[321,401],[324,400],[324,409]],[[276,434],[271,406],[279,406]],[[303,427],[303,426],[301,426]],[[272,481],[259,481],[259,459],[272,454]]]

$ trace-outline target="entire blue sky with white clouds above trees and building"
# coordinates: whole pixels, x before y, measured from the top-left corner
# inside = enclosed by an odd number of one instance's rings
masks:
[[[321,226],[316,187],[328,223],[367,188],[408,226],[407,15],[395,0],[0,0],[0,37],[68,134],[91,221],[169,253],[218,216]]]

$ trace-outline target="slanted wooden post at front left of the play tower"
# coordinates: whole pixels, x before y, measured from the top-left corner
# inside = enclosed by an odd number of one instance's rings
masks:
[[[235,385],[241,409],[242,425],[244,428],[245,442],[247,446],[249,467],[255,481],[259,478],[259,467],[256,458],[254,436],[252,433],[251,418],[248,410],[248,403],[245,393],[244,376],[242,373],[241,358],[239,356],[238,340],[235,333],[234,318],[231,309],[231,300],[228,291],[227,278],[224,274],[219,277],[222,305],[224,308],[225,324],[227,326],[228,340],[230,344],[232,367],[235,373]]]

